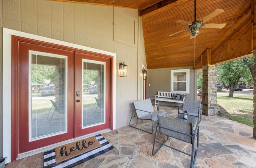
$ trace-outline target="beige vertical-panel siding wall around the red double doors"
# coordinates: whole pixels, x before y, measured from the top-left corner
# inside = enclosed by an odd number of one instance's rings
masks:
[[[142,64],[146,66],[143,34],[141,24],[138,25],[138,10],[46,0],[1,0],[0,7],[1,48],[2,27],[6,27],[116,53],[116,128],[128,124],[132,114],[132,102],[141,99],[138,96],[142,95],[141,67]],[[122,19],[119,18],[119,27],[114,28],[114,21],[117,21],[114,15],[116,10],[122,14]],[[116,32],[120,40],[114,40]],[[139,57],[138,41],[140,46],[143,46],[140,47]],[[122,61],[128,64],[127,78],[119,77],[119,63]],[[2,76],[2,63],[0,66]],[[2,78],[0,80],[2,86]]]

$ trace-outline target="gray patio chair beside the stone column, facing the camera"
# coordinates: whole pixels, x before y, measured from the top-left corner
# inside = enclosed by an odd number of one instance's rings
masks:
[[[181,110],[181,107],[182,107],[182,110]],[[183,104],[179,105],[178,115],[180,113],[183,113],[184,111],[187,111],[188,115],[193,115],[198,117],[197,123],[199,123],[199,115],[200,115],[200,121],[202,120],[202,107],[201,107],[200,101],[185,99]]]

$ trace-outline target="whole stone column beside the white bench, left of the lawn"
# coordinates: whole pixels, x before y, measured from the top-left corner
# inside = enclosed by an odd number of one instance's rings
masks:
[[[217,66],[203,66],[202,113],[217,115]]]

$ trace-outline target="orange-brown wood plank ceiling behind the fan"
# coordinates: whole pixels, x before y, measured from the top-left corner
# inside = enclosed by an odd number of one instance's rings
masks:
[[[194,39],[177,20],[194,21],[194,0],[56,0],[138,9],[142,18],[147,68],[194,66],[200,55],[211,48],[246,13],[252,0],[196,0],[196,20],[220,8],[223,13],[206,23],[227,23],[222,29],[200,29]],[[243,33],[243,32],[241,32]],[[195,45],[194,45],[195,44]]]

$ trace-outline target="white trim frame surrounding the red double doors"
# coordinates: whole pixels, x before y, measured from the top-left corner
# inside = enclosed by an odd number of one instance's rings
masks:
[[[67,47],[73,47],[95,53],[110,55],[113,57],[113,129],[116,129],[116,53],[94,49],[82,45],[50,39],[38,35],[24,33],[12,29],[3,28],[3,157],[6,158],[6,163],[11,162],[11,102],[12,102],[12,35],[25,37],[29,39],[36,39],[48,43],[54,43]],[[39,151],[40,152],[40,151]],[[19,158],[19,157],[18,157]]]

